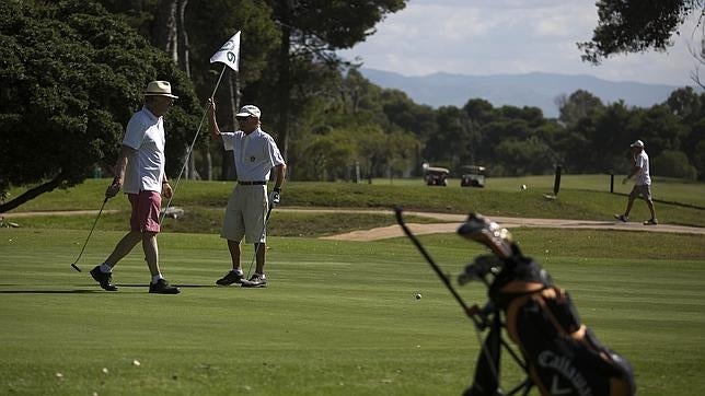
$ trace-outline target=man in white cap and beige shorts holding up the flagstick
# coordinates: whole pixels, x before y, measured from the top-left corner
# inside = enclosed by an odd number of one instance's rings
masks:
[[[259,126],[259,108],[243,106],[235,115],[240,130],[221,132],[216,121],[216,103],[208,101],[208,129],[213,139],[221,139],[227,151],[234,156],[238,184],[228,200],[220,236],[228,240],[232,270],[216,281],[219,286],[240,283],[243,288],[267,286],[264,272],[266,255],[266,225],[269,205],[279,203],[281,186],[287,165],[271,136]],[[267,182],[275,170],[271,195],[267,196]],[[254,244],[256,267],[250,279],[245,279],[240,264],[242,238]]]

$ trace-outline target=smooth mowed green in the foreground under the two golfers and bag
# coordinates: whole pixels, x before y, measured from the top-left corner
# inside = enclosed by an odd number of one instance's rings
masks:
[[[515,234],[632,362],[639,395],[705,394],[702,235]],[[183,291],[172,296],[147,293],[139,248],[116,269],[120,290],[103,292],[88,270],[122,233],[96,231],[78,273],[85,236],[0,229],[0,394],[458,395],[470,384],[471,322],[405,238],[271,237],[270,287],[253,290],[213,286],[229,267],[216,235],[164,233],[162,269]],[[483,253],[454,235],[421,241],[453,276]],[[459,290],[485,302],[481,284]]]

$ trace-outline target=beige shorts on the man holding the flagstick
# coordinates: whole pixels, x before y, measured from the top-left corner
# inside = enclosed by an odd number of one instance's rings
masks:
[[[220,236],[235,242],[243,236],[245,243],[267,242],[264,230],[267,206],[267,186],[236,185],[226,207]]]

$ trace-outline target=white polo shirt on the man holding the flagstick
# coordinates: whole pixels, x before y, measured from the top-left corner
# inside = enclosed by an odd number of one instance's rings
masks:
[[[240,182],[267,182],[273,167],[284,164],[274,139],[257,128],[250,135],[239,130],[222,132],[226,150],[232,150]]]

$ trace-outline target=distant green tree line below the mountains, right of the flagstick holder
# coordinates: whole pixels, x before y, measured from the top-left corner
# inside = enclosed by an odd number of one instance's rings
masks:
[[[632,166],[636,139],[646,142],[655,175],[705,179],[705,94],[692,88],[648,108],[605,104],[579,90],[557,97],[559,117],[546,118],[538,107],[495,107],[482,98],[434,109],[356,70],[342,82],[339,98],[326,101],[327,110],[301,129],[305,139],[296,150],[307,161],[299,167],[310,170],[300,175],[305,179],[350,179],[354,164],[371,177],[419,175],[424,162],[455,175],[471,164],[494,176],[547,174],[556,165],[573,174],[620,174]]]

